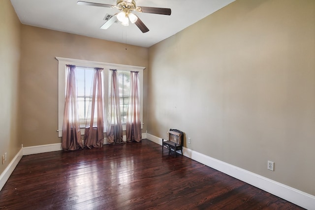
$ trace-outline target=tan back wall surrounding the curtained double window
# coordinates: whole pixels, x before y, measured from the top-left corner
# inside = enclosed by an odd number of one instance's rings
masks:
[[[148,48],[22,26],[21,124],[23,146],[60,143],[58,138],[58,60],[55,57],[148,66]],[[144,89],[147,86],[144,70]],[[146,132],[146,91],[144,127]]]

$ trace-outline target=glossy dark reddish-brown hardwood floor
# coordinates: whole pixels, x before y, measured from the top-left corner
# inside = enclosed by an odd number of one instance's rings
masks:
[[[142,143],[23,156],[0,210],[299,210],[185,156]]]

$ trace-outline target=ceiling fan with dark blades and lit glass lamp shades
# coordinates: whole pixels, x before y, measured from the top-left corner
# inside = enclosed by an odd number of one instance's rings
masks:
[[[133,14],[133,11],[144,12],[144,13],[152,13],[152,14],[160,14],[160,15],[171,15],[170,8],[159,8],[159,7],[148,7],[148,6],[136,6],[136,2],[134,0],[117,0],[116,5],[104,4],[104,3],[94,3],[88,1],[78,1],[79,5],[87,5],[87,6],[100,6],[100,7],[109,7],[109,8],[117,8],[121,12],[116,13],[110,19],[107,20],[100,28],[108,29],[116,20],[122,22],[123,26],[129,25],[129,20],[131,23],[134,23],[143,33],[148,32],[149,29],[144,25],[144,23],[140,20],[140,18]]]

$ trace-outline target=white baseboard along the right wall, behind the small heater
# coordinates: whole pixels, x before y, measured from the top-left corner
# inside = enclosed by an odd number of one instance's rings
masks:
[[[147,134],[147,139],[150,141],[162,145],[162,139],[154,135]],[[254,174],[250,171],[225,163],[221,160],[212,158],[205,154],[199,153],[188,148],[183,148],[183,155],[193,159],[197,162],[205,164],[211,168],[221,171],[231,177],[238,180],[242,180],[255,187],[258,187],[266,192],[276,195],[284,200],[287,200],[293,204],[303,207],[308,210],[315,210],[315,196],[287,186],[280,182],[270,180],[262,177],[258,174]]]

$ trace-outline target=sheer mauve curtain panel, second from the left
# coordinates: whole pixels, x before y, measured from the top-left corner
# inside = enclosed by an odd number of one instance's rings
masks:
[[[104,142],[104,115],[103,115],[103,93],[102,93],[102,68],[94,68],[94,76],[91,90],[92,101],[89,105],[90,118],[87,118],[84,145],[87,148],[103,147]],[[95,103],[96,103],[96,126],[95,121]]]

